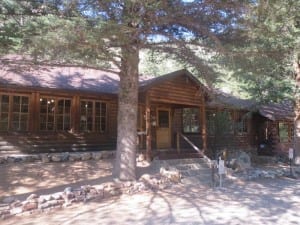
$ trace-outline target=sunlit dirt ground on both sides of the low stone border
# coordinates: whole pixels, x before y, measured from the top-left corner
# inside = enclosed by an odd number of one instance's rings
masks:
[[[0,196],[23,200],[65,187],[112,180],[112,160],[0,165]],[[138,176],[156,168],[139,164]],[[288,178],[231,182],[223,188],[173,185],[157,192],[78,203],[47,213],[17,215],[0,224],[300,224],[300,180]]]

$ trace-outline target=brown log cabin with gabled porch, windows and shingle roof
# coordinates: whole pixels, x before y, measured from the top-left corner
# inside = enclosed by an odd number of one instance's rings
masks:
[[[139,85],[137,144],[148,156],[257,147],[253,102],[209,91],[187,70],[140,76]],[[115,150],[118,88],[117,73],[3,57],[1,152]],[[220,112],[229,121],[222,133]]]

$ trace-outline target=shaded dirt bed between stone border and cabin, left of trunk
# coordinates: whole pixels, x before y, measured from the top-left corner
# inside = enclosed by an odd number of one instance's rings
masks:
[[[23,200],[33,192],[50,194],[68,186],[106,182],[112,179],[111,169],[112,160],[0,165],[0,200],[5,196]]]

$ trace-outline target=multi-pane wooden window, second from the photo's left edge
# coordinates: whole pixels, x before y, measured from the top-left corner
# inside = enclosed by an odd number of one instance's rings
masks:
[[[29,98],[26,96],[13,96],[12,129],[25,131],[28,129]]]

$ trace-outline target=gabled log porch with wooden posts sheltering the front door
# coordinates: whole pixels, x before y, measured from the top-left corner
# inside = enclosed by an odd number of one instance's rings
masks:
[[[187,71],[155,78],[139,97],[139,149],[147,158],[206,150],[205,95]]]

